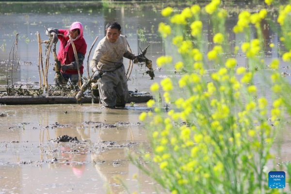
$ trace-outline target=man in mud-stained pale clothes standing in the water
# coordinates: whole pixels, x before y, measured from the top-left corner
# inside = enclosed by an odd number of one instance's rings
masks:
[[[98,80],[102,107],[125,107],[129,89],[123,57],[135,60],[137,56],[127,49],[126,37],[120,35],[121,27],[117,22],[109,22],[105,29],[106,36],[99,42],[90,62],[93,79]]]

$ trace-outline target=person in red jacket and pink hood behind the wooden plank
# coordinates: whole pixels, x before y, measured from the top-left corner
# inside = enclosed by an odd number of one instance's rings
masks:
[[[73,46],[71,45],[71,41],[69,39],[69,34],[71,35],[74,45],[76,47],[76,51],[78,53],[79,65],[81,75],[83,74],[83,60],[85,59],[87,44],[85,39],[83,38],[84,27],[80,22],[74,22],[70,26],[68,30],[49,28],[49,32],[46,34],[55,33],[57,38],[55,38],[53,43],[56,43],[58,39],[61,41],[58,60],[61,62],[61,73],[63,75],[64,81],[61,84],[66,84],[68,80],[71,81],[72,84],[76,85],[79,81],[77,62],[74,55]],[[54,84],[57,84],[57,80],[54,80]]]

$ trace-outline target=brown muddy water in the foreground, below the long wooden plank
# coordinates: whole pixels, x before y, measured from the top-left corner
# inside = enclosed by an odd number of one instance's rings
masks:
[[[0,124],[0,193],[124,191],[115,176],[131,192],[154,192],[153,181],[127,158],[141,144],[149,150],[146,129],[138,123],[139,114],[148,110],[144,106],[122,110],[102,110],[99,105],[1,106],[9,116],[2,117]],[[128,123],[103,128],[88,121]],[[49,142],[64,134],[81,141]],[[103,141],[113,145],[108,147]],[[141,175],[140,188],[133,178],[136,173]]]

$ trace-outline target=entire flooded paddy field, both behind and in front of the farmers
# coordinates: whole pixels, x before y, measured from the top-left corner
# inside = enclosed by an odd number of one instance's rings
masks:
[[[162,55],[171,54],[167,48],[170,43],[162,42],[158,25],[165,19],[161,10],[167,5],[182,10],[189,6],[184,2],[84,2],[84,3],[0,3],[0,85],[38,84],[36,33],[46,40],[45,28],[67,29],[74,21],[84,26],[84,38],[88,44],[87,54],[96,36],[97,43],[105,36],[105,25],[117,21],[122,26],[122,34],[127,35],[132,51],[137,54],[139,48],[148,44],[147,58],[152,60],[155,78],[150,80],[145,66],[135,65],[128,81],[131,91],[149,91],[152,83],[166,77],[179,79],[180,73],[174,67],[170,70],[157,68],[156,60]],[[227,6],[226,6],[227,7]],[[245,1],[228,8],[226,30],[229,33],[229,47],[241,46],[244,37],[234,34],[232,28],[237,23],[239,8],[256,10],[261,5],[252,5]],[[275,19],[277,10],[270,10]],[[205,55],[213,48],[213,33],[208,16],[201,18],[205,25]],[[267,24],[265,24],[267,25]],[[7,68],[11,44],[19,33],[17,55],[19,64]],[[252,33],[255,37],[255,33]],[[278,32],[266,28],[264,61],[270,64],[282,50],[272,49],[274,43],[280,48]],[[97,45],[97,44],[96,44]],[[96,48],[96,46],[95,46]],[[240,49],[235,56],[239,66],[245,66],[246,57]],[[91,53],[92,58],[92,53]],[[179,56],[173,56],[175,62]],[[12,60],[12,57],[10,58]],[[84,60],[84,75],[87,75],[87,56]],[[50,58],[49,84],[53,83],[53,58]],[[126,68],[129,60],[124,59]],[[10,63],[11,65],[11,63]],[[286,62],[280,61],[280,71],[285,72],[285,79],[291,82],[291,70]],[[17,68],[16,68],[17,67]],[[266,68],[267,69],[267,68]],[[259,69],[264,71],[264,69]],[[215,71],[209,67],[208,72]],[[90,75],[92,73],[90,72]],[[206,75],[207,76],[207,75]],[[263,80],[255,78],[255,84],[261,94],[271,99],[272,91]],[[4,90],[0,88],[0,91]],[[183,93],[177,91],[177,97]],[[268,98],[269,97],[269,98]],[[162,106],[166,104],[162,101]],[[171,105],[169,104],[171,109]],[[142,112],[152,111],[146,103],[127,104],[124,109],[101,109],[100,104],[66,105],[1,105],[0,106],[0,194],[6,193],[126,193],[121,178],[130,193],[157,193],[160,186],[129,161],[129,153],[140,153],[140,147],[146,152],[152,150],[147,140],[147,129],[139,121]],[[164,110],[166,113],[166,110]],[[267,118],[266,118],[267,119]],[[289,134],[290,127],[286,128]],[[73,141],[60,142],[58,137],[68,135]],[[78,141],[77,141],[78,140]],[[280,140],[278,140],[280,141]],[[290,137],[285,136],[280,150],[272,147],[276,161],[289,162]],[[143,162],[143,161],[141,161]],[[279,165],[278,164],[278,165]],[[273,163],[269,163],[271,168]],[[160,193],[167,191],[160,190]]]

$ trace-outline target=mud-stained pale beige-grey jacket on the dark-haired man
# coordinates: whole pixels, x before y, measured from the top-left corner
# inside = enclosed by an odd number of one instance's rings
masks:
[[[90,67],[102,71],[113,71],[123,64],[123,57],[134,60],[135,55],[127,49],[126,37],[120,35],[116,42],[110,42],[105,36],[97,45]]]

